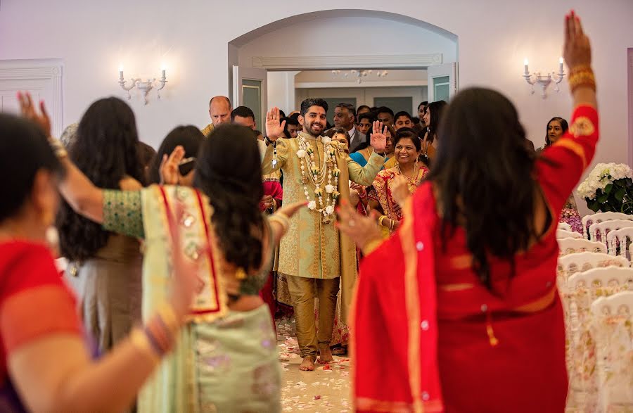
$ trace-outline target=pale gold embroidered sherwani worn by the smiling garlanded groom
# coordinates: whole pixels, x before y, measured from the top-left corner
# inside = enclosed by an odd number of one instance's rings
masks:
[[[321,136],[314,137],[300,132],[307,143],[314,149],[314,163],[321,167],[324,158],[324,144]],[[373,153],[365,167],[361,167],[350,158],[343,146],[337,141],[331,145],[336,149],[336,162],[340,170],[338,191],[340,199],[349,200],[351,179],[357,184],[369,186],[385,163],[385,158]],[[283,203],[306,201],[300,158],[297,156],[299,140],[278,139],[276,144],[277,164],[273,166],[273,146],[267,148],[262,161],[262,172],[269,174],[281,169],[283,172]],[[325,184],[324,184],[325,185]],[[307,184],[310,200],[314,200],[314,184]],[[322,188],[325,193],[325,189]],[[325,198],[325,197],[324,197]],[[351,289],[356,279],[356,248],[354,242],[340,234],[333,222],[322,222],[319,212],[302,208],[290,219],[288,234],[281,239],[279,272],[296,277],[316,279],[341,278],[343,294],[343,318],[346,318],[347,307],[351,302]],[[347,290],[347,291],[346,291]]]

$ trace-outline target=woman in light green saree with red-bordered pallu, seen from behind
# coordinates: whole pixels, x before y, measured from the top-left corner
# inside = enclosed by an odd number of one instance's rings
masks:
[[[163,161],[167,184],[182,182],[178,147]],[[102,191],[72,163],[60,184],[77,212],[105,229],[143,238],[143,317],[170,294],[167,217],[177,222],[184,255],[198,265],[198,290],[179,342],[139,395],[140,412],[279,412],[281,376],[270,314],[258,292],[288,217],[302,203],[266,219],[260,153],[252,132],[218,127],[196,160],[194,188],[153,185]]]

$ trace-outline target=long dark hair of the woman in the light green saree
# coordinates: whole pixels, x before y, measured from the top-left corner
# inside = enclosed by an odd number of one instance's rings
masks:
[[[193,186],[210,199],[224,257],[246,272],[262,266],[261,162],[252,130],[220,125],[200,148],[193,177]]]

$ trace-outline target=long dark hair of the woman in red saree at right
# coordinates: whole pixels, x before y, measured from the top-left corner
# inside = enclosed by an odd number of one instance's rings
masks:
[[[466,230],[473,270],[492,289],[490,256],[508,260],[528,248],[534,226],[535,154],[505,96],[490,89],[466,89],[451,101],[438,129],[437,156],[428,179],[439,196],[442,236]]]

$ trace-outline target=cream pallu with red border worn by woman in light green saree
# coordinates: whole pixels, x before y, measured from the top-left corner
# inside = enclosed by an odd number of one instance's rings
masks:
[[[172,265],[170,216],[180,203],[184,212],[173,222],[181,236],[184,255],[199,265],[199,286],[174,351],[139,394],[139,412],[197,412],[196,328],[227,313],[226,293],[217,272],[219,251],[210,227],[208,199],[195,189],[153,185],[142,191],[145,258],[143,262],[143,318],[167,301]]]

